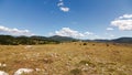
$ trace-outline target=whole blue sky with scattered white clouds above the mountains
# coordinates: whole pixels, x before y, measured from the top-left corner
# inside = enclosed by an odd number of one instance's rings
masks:
[[[132,36],[132,0],[0,0],[0,34]]]

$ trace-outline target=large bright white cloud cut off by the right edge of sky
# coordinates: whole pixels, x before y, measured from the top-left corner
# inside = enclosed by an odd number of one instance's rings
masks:
[[[124,14],[111,21],[113,26],[118,26],[122,31],[132,31],[132,14]]]

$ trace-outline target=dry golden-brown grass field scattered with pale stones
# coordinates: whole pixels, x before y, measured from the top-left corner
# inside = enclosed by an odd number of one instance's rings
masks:
[[[22,75],[131,75],[132,45],[0,45],[0,71],[14,75],[19,68],[33,69]]]

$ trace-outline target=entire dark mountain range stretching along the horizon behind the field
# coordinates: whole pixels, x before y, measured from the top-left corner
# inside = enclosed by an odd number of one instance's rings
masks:
[[[0,35],[0,44],[2,45],[19,45],[19,44],[51,44],[61,42],[105,42],[105,43],[129,43],[132,44],[132,38],[119,38],[113,40],[78,40],[69,36],[12,36],[12,35]]]

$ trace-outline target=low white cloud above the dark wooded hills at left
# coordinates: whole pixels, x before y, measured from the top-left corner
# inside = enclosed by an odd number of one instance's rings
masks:
[[[0,25],[0,32],[12,35],[33,35],[29,30],[10,29],[3,25]]]

